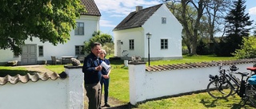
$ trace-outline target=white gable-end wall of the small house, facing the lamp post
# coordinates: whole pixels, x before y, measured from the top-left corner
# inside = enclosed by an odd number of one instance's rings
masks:
[[[162,24],[162,18],[166,18],[166,24]],[[145,29],[144,40],[146,47],[144,55],[148,54],[148,43],[146,33],[151,33],[150,58],[181,58],[182,57],[182,25],[168,10],[162,5],[147,21],[142,28]],[[168,49],[161,49],[161,39],[168,39]]]

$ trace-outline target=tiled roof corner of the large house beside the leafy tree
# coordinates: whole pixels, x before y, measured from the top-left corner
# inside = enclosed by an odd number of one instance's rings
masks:
[[[102,16],[94,0],[81,0],[81,2],[87,11],[86,13],[82,13],[82,15]]]

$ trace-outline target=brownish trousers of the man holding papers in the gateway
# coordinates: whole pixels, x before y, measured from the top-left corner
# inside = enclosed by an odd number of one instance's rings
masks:
[[[100,82],[98,82],[98,84],[85,84],[85,88],[86,96],[89,99],[88,109],[98,109],[102,100],[102,86]]]

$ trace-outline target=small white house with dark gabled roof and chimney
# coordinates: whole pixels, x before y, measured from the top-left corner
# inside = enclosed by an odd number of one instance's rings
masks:
[[[113,30],[114,56],[141,56],[150,60],[182,58],[182,25],[165,4],[136,6]],[[146,33],[151,34],[150,40]]]

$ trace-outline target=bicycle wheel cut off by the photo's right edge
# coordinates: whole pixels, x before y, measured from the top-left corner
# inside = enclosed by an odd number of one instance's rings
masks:
[[[246,87],[246,97],[248,97],[250,104],[256,107],[256,88],[253,85]]]

